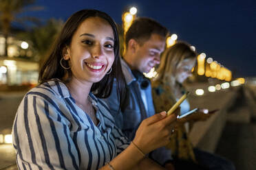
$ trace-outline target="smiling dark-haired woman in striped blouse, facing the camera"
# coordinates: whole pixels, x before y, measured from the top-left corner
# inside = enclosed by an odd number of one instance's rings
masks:
[[[97,98],[111,93],[114,79],[123,94],[118,53],[116,25],[104,12],[81,10],[67,20],[39,86],[17,110],[12,136],[19,169],[162,169],[145,154],[168,143],[175,114],[146,119],[130,143]]]

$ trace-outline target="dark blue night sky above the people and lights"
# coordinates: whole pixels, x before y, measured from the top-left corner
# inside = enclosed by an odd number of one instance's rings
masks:
[[[234,77],[256,77],[255,0],[37,0],[35,5],[45,9],[26,15],[65,21],[78,10],[91,8],[107,12],[119,24],[123,10],[135,6],[137,16],[156,19],[178,40],[233,71]]]

